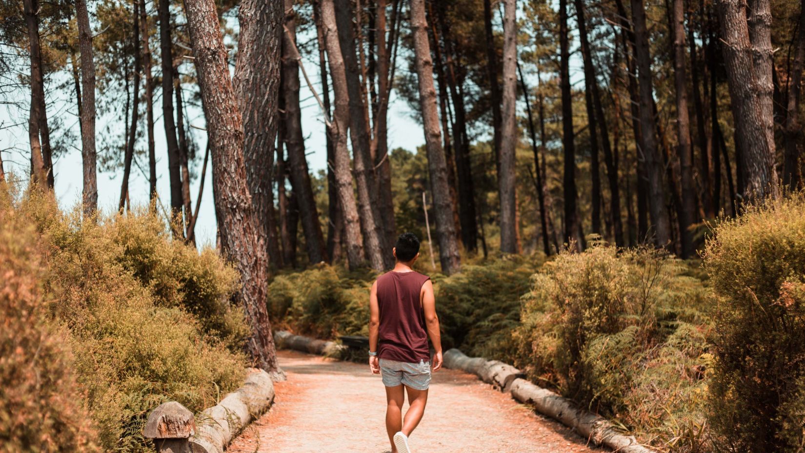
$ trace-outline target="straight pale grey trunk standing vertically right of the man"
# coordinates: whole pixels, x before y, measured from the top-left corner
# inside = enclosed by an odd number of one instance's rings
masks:
[[[503,105],[501,118],[500,169],[497,193],[500,198],[501,251],[517,253],[517,21],[516,0],[506,0],[503,16]]]

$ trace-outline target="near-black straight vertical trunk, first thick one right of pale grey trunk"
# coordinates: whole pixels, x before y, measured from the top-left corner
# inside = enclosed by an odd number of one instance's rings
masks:
[[[559,88],[562,91],[562,144],[564,148],[564,242],[581,250],[576,207],[576,143],[573,142],[573,99],[570,91],[568,1],[559,0]]]

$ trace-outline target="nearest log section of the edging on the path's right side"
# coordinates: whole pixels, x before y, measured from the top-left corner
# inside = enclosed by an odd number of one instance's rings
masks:
[[[618,453],[654,453],[639,444],[634,436],[618,432],[607,419],[579,409],[567,398],[528,380],[515,379],[511,383],[511,394],[517,401],[534,406],[540,414],[559,420],[596,445],[604,445]]]

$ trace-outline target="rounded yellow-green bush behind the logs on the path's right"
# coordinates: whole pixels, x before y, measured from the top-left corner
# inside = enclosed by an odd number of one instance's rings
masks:
[[[655,444],[695,450],[708,328],[691,273],[655,251],[563,252],[522,297],[515,364]]]

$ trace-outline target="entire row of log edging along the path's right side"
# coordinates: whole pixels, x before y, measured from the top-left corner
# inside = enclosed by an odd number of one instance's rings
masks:
[[[483,357],[468,357],[453,348],[444,353],[444,367],[469,372],[502,392],[510,392],[515,400],[533,406],[539,414],[554,418],[596,445],[603,445],[618,453],[656,453],[638,443],[634,436],[618,432],[609,420],[580,409],[568,398],[523,379],[523,373],[509,364]]]

